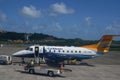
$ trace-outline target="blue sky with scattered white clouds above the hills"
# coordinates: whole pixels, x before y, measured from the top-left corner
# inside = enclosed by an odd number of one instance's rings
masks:
[[[120,0],[0,0],[0,30],[97,40],[120,34]]]

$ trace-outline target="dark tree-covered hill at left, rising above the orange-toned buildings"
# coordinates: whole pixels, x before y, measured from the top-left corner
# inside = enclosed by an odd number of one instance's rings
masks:
[[[17,33],[17,32],[0,32],[0,41],[8,41],[8,40],[56,40],[56,37],[42,34],[42,33]]]

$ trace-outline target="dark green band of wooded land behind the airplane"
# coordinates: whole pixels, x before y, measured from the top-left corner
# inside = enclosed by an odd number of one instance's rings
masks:
[[[0,32],[1,44],[40,44],[54,46],[83,46],[97,43],[95,40],[63,39],[42,33],[17,33],[17,32]],[[120,41],[113,41],[111,51],[120,51]]]

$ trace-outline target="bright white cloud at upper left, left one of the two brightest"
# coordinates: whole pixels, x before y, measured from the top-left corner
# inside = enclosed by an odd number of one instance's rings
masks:
[[[42,16],[42,13],[40,10],[37,10],[34,6],[24,6],[21,10],[21,13],[25,16],[29,16],[32,18],[39,18]]]

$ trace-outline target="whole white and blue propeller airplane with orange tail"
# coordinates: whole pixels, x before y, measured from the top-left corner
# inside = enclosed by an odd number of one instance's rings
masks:
[[[109,52],[110,45],[114,36],[120,35],[104,35],[97,44],[85,45],[80,47],[68,46],[29,46],[25,50],[14,53],[13,57],[21,58],[45,58],[47,64],[60,63],[64,60],[91,59]]]

